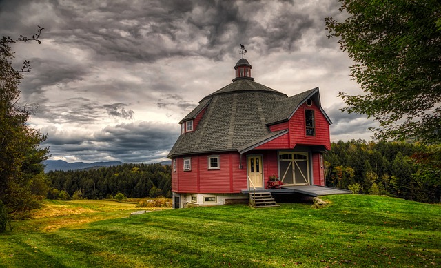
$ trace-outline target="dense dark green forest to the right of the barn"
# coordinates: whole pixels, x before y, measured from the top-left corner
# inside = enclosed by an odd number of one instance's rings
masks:
[[[437,151],[438,150],[438,151]],[[440,165],[425,154],[440,154],[440,145],[404,142],[338,141],[325,155],[326,183],[355,194],[386,194],[435,203],[441,198]],[[421,156],[423,154],[423,156]]]

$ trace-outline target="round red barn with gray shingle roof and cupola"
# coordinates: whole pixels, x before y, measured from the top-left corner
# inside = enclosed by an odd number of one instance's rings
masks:
[[[270,180],[325,185],[322,153],[331,120],[318,87],[287,96],[252,78],[240,59],[233,83],[205,96],[181,122],[172,147],[174,207],[247,202]],[[276,183],[276,185],[278,184]]]

